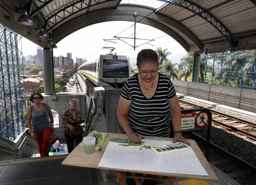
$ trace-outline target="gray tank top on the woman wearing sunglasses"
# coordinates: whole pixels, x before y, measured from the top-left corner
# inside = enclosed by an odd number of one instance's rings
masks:
[[[32,105],[32,130],[35,135],[38,135],[43,132],[43,130],[47,127],[53,127],[49,115],[48,110],[43,103],[43,110],[36,111],[34,105]]]

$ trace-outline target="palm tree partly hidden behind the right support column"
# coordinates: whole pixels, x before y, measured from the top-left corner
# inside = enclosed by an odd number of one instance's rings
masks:
[[[187,81],[188,78],[192,76],[192,70],[193,70],[193,55],[187,55],[183,56],[181,58],[181,63],[178,65],[179,68],[182,68],[183,66],[186,66],[185,69],[181,70],[178,79],[181,80],[184,78],[185,81]],[[203,55],[200,59],[200,74],[199,74],[199,82],[203,83],[204,81],[204,70],[205,70],[205,55]]]

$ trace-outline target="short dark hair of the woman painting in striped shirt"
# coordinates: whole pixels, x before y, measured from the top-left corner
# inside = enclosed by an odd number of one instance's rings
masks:
[[[157,52],[152,49],[142,49],[137,56],[137,66],[144,64],[155,64],[158,66]]]

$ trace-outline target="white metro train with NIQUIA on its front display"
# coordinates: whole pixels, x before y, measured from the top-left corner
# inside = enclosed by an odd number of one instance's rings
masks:
[[[98,59],[80,65],[77,73],[95,85],[107,83],[117,89],[131,77],[131,66],[129,57],[125,55],[100,55]]]

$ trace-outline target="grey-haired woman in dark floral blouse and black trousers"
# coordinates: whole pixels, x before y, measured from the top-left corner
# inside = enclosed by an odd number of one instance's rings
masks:
[[[64,136],[67,141],[67,147],[69,154],[74,149],[74,139],[76,146],[82,141],[82,127],[80,123],[86,120],[81,119],[81,115],[78,110],[76,110],[78,104],[77,99],[71,99],[69,101],[69,109],[66,110],[62,115],[62,124],[64,130]]]

